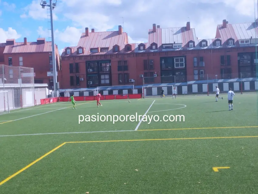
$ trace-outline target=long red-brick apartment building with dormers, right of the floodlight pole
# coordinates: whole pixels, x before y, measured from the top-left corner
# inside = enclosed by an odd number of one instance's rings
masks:
[[[61,55],[60,89],[110,85],[142,85],[231,79],[255,72],[257,23],[229,24],[214,29],[215,38],[199,39],[190,22],[180,28],[153,24],[147,43],[129,43],[119,26],[114,32],[85,28],[76,47]]]

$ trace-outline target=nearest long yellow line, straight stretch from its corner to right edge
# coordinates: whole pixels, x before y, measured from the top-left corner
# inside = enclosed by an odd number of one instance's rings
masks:
[[[251,137],[258,137],[258,136],[194,137],[194,138],[170,138],[170,139],[128,139],[128,140],[84,141],[84,142],[66,142],[66,143],[134,142],[134,141],[185,140],[185,139],[226,139],[226,138],[251,138]]]

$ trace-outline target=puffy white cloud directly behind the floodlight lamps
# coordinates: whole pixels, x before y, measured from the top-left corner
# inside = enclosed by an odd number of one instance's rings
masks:
[[[32,1],[30,5],[27,5],[24,8],[24,13],[20,15],[21,18],[33,18],[35,20],[44,20],[48,19],[48,15],[50,15],[47,11],[47,7],[42,9],[39,5],[39,1]],[[57,16],[53,13],[53,20],[57,20]]]

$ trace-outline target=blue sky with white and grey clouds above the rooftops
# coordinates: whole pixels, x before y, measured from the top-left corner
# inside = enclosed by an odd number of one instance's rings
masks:
[[[49,0],[46,0],[49,2]],[[41,0],[0,0],[0,42],[51,41],[49,10]],[[199,39],[215,38],[216,27],[229,23],[253,22],[257,0],[58,0],[53,10],[54,40],[59,52],[76,46],[85,28],[95,32],[128,33],[129,43],[148,41],[152,24],[161,28],[183,27],[190,21]]]

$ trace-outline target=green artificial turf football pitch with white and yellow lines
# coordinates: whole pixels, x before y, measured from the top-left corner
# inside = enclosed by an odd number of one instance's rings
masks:
[[[233,111],[220,96],[84,101],[76,110],[58,102],[0,115],[0,193],[256,194],[257,95],[236,94]]]

